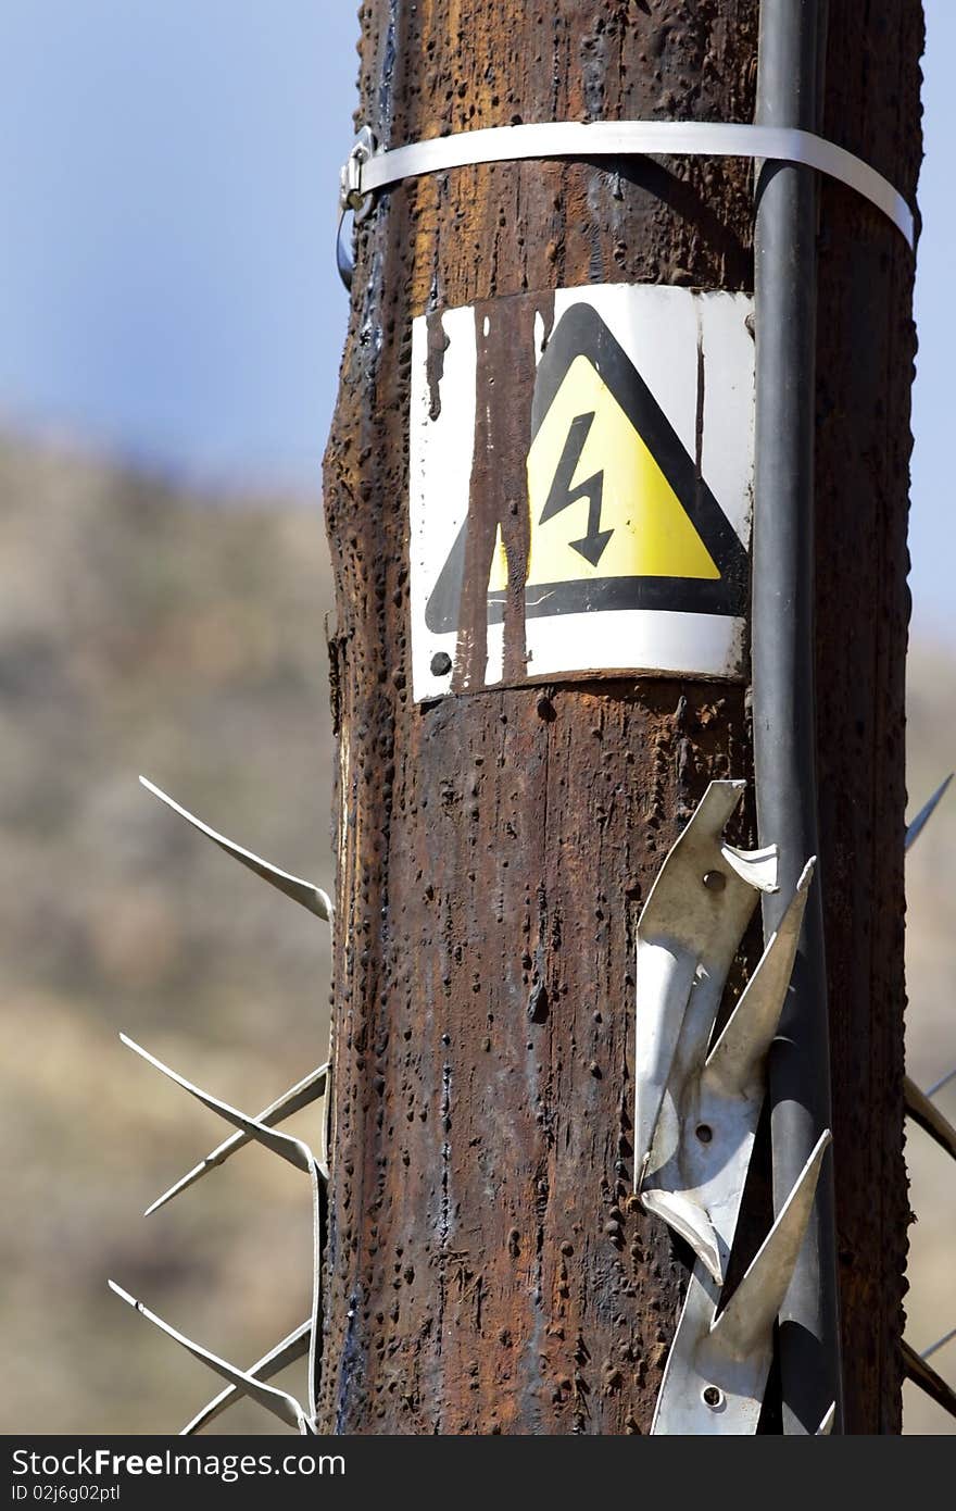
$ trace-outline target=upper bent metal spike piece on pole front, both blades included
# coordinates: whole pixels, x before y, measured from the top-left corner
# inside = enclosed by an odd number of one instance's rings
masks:
[[[726,973],[758,891],[773,887],[776,873],[775,849],[748,855],[720,840],[739,796],[734,783],[711,784],[668,855],[637,929],[636,1102],[646,1114],[636,1139],[637,1191],[642,1204],[693,1247],[717,1283],[764,1095],[758,1070],[782,1009],[813,875],[811,864],[708,1074],[707,1047]],[[689,991],[681,952],[693,970]],[[642,966],[649,967],[643,975]],[[655,1040],[669,1055],[663,1091],[665,1058],[658,1055],[654,1065]]]

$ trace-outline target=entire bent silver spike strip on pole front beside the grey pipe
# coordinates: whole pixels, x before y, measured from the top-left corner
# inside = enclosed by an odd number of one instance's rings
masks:
[[[776,846],[740,851],[723,828],[743,781],[711,781],[672,846],[637,925],[634,1186],[695,1251],[651,1431],[757,1431],[787,1293],[829,1130],[820,1138],[732,1295],[722,1287],[766,1091],[766,1059],[790,984],[810,860],[778,931],[716,1043],[726,975]],[[723,1302],[723,1304],[722,1304]],[[829,1431],[829,1414],[819,1431]]]

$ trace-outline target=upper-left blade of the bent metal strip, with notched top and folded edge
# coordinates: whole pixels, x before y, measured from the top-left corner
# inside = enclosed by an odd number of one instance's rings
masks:
[[[634,1189],[640,1191],[690,1005],[713,1026],[731,961],[761,891],[776,890],[776,846],[745,852],[723,827],[746,783],[711,781],[671,848],[637,922]]]

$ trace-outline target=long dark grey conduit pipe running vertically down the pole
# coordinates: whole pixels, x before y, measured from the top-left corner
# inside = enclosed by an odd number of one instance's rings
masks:
[[[757,122],[817,130],[825,0],[761,0]],[[781,848],[778,925],[810,855],[819,854],[814,736],[814,358],[817,180],[766,163],[757,181],[757,450],[754,503],[752,697],[757,822]],[[778,1038],[770,1053],[775,1210],[831,1126],[829,1027],[822,878],[811,888]],[[779,1313],[785,1434],[816,1432],[837,1402],[840,1316],[832,1154],[793,1283]]]

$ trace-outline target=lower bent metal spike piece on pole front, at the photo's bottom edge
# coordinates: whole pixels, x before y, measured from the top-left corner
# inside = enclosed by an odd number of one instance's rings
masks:
[[[773,1324],[806,1233],[829,1141],[826,1130],[722,1312],[719,1286],[699,1260],[695,1265],[651,1432],[740,1437],[757,1431]]]

